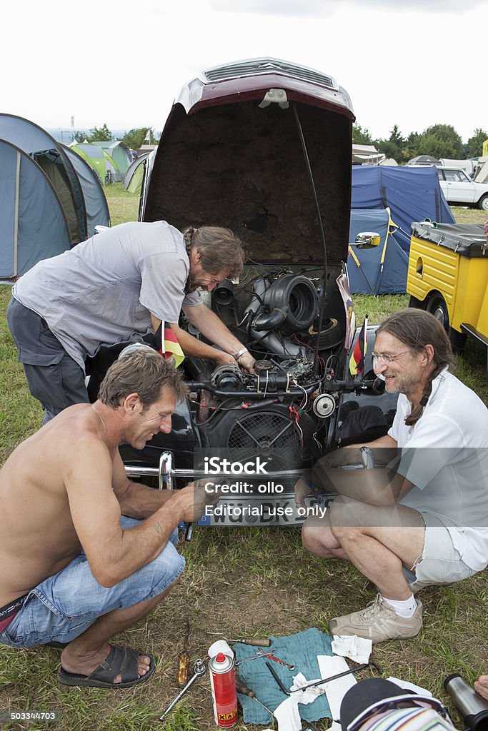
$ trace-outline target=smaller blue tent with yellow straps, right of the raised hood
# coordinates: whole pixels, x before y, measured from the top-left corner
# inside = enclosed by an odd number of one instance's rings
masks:
[[[380,235],[380,245],[373,249],[349,246],[348,275],[350,292],[356,295],[402,294],[407,287],[408,253],[395,238],[396,224],[388,208],[350,213],[349,240],[359,232]]]

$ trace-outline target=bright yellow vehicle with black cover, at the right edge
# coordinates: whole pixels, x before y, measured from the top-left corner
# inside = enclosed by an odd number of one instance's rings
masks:
[[[412,224],[410,307],[432,312],[456,349],[462,349],[467,335],[488,348],[487,285],[488,245],[481,224]]]

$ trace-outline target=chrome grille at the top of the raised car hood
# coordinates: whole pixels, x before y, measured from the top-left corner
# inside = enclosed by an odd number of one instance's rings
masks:
[[[284,76],[304,79],[320,86],[337,91],[336,81],[314,69],[278,61],[276,58],[252,58],[249,61],[237,61],[235,64],[216,66],[203,72],[206,81],[224,81],[241,76],[258,76],[266,73],[278,73]]]

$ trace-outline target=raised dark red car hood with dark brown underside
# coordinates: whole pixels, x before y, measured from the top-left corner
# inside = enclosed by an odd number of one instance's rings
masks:
[[[339,264],[348,254],[353,121],[348,94],[313,69],[273,58],[209,69],[170,111],[142,219],[228,227],[255,262],[322,262],[302,134],[327,260]]]

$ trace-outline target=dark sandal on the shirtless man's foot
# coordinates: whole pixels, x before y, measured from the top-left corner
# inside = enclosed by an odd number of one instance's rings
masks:
[[[110,654],[107,659],[90,673],[90,675],[79,675],[78,673],[68,673],[64,667],[59,668],[58,680],[63,685],[92,687],[92,688],[131,688],[138,683],[144,683],[154,673],[156,664],[152,655],[147,655],[151,659],[149,670],[146,675],[138,675],[138,659],[140,652],[130,650],[129,648],[121,648],[116,645],[110,646]],[[121,675],[121,682],[114,683],[113,679]]]

